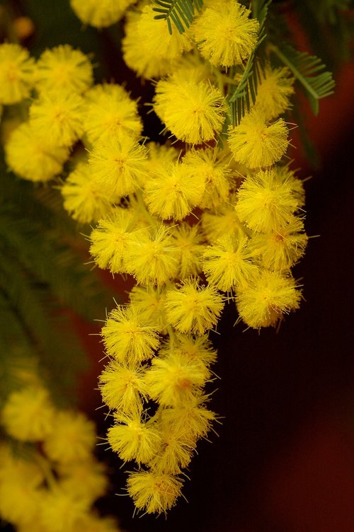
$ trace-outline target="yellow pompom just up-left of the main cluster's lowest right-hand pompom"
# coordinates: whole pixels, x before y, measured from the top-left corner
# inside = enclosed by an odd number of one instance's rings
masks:
[[[202,270],[207,281],[219,290],[229,291],[249,282],[258,272],[251,261],[249,239],[235,236],[219,238],[205,249]]]

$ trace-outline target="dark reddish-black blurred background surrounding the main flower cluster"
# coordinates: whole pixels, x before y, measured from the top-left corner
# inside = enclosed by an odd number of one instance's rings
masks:
[[[152,88],[142,86],[120,58],[118,27],[82,28],[65,0],[2,4],[32,21],[23,44],[33,54],[64,42],[80,47],[93,54],[98,80],[126,81],[133,98],[151,100]],[[101,509],[117,515],[126,531],[354,531],[353,63],[343,62],[335,78],[336,93],[321,101],[319,117],[305,103],[302,108],[316,164],[292,132],[292,168],[300,168],[302,178],[312,176],[306,229],[314,238],[295,270],[304,284],[301,308],[278,332],[259,333],[234,326],[234,306],[225,309],[219,334],[212,335],[220,378],[212,408],[222,420],[211,443],[200,441],[183,492],[188,502],[181,498],[166,519],[133,517],[129,497],[115,495],[125,485],[118,457],[98,448],[113,486]],[[154,138],[159,125],[143,105],[141,110],[144,134]],[[124,297],[120,284],[106,282]],[[103,369],[99,324],[72,319],[91,362],[79,378],[79,405],[103,436],[108,422],[96,390]]]

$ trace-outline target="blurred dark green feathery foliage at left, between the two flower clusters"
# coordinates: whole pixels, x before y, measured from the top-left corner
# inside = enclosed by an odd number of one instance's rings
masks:
[[[84,264],[84,238],[60,209],[59,192],[3,168],[0,175],[1,396],[36,366],[58,400],[86,366],[72,310],[103,319],[113,300]]]

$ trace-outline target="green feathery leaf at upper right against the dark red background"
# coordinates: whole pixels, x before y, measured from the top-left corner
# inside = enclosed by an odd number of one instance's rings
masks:
[[[326,67],[318,57],[299,52],[290,45],[285,45],[280,50],[272,44],[270,50],[292,71],[309,99],[314,114],[317,115],[319,100],[333,94],[335,81],[331,72],[324,71]]]

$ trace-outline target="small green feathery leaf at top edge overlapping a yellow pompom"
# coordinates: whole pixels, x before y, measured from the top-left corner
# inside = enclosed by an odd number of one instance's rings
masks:
[[[202,8],[202,0],[154,0],[159,7],[152,10],[159,13],[154,18],[164,19],[167,22],[170,35],[172,34],[172,24],[176,26],[179,33],[184,33],[186,28],[193,22],[195,8],[198,11]]]

